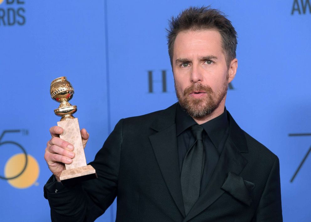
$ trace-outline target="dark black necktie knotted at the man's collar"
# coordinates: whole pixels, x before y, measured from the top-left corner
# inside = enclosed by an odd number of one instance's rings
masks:
[[[195,124],[191,127],[191,131],[196,141],[186,153],[180,174],[186,215],[200,195],[200,183],[204,168],[203,127]]]

